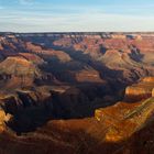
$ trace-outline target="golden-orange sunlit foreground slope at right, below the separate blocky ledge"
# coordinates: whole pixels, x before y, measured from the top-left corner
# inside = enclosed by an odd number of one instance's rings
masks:
[[[148,120],[153,120],[151,117],[154,111],[153,102],[154,100],[151,98],[139,105],[119,102],[111,108],[96,110],[96,119],[110,125],[106,132],[106,141],[119,142],[129,139]]]

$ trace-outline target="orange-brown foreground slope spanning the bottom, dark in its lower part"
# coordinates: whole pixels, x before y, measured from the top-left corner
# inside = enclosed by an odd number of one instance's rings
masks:
[[[65,90],[55,89],[61,94]],[[72,89],[69,92],[75,95],[77,91]],[[30,96],[28,92],[19,92]],[[31,94],[31,97],[35,99],[34,94]],[[0,151],[9,154],[20,151],[24,153],[23,150],[26,150],[26,153],[35,151],[38,154],[53,151],[57,154],[64,151],[70,154],[96,154],[99,150],[99,153],[105,154],[114,152],[146,154],[147,151],[153,152],[153,113],[154,99],[150,97],[140,102],[121,101],[108,108],[97,109],[94,118],[50,120],[35,132],[22,136],[12,135],[11,132],[3,130]],[[38,147],[38,151],[35,147]]]

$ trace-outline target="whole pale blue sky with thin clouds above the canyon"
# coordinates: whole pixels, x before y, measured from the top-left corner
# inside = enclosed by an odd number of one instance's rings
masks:
[[[0,32],[154,31],[154,0],[0,0]]]

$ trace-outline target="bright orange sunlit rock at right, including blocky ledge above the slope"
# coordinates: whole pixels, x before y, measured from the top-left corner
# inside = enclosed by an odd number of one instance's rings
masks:
[[[96,110],[96,120],[106,123],[106,127],[109,125],[106,131],[107,142],[128,140],[146,124],[148,127],[151,120],[153,122],[153,77],[145,77],[138,84],[127,87],[123,101]]]

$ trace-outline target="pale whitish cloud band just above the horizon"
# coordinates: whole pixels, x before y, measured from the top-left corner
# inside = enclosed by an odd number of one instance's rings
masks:
[[[120,15],[100,12],[94,12],[92,14],[85,12],[76,14],[12,15],[8,18],[1,19],[3,24],[0,24],[0,29],[3,29],[3,31],[6,29],[6,31],[12,30],[15,32],[103,32],[152,31],[154,28],[154,16]],[[7,26],[2,26],[4,24]]]

